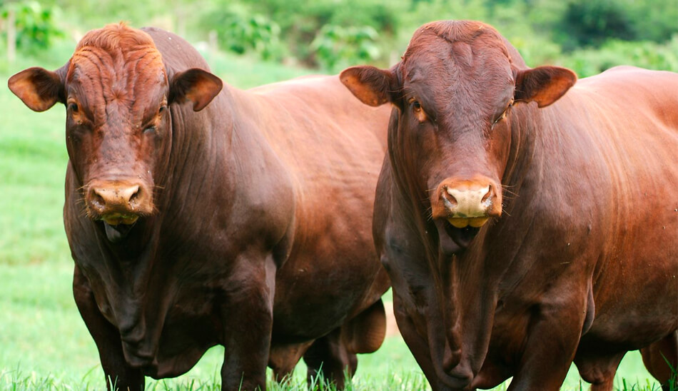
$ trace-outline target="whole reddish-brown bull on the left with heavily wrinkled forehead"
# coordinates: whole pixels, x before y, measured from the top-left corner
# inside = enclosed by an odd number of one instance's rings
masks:
[[[121,24],[9,80],[35,111],[66,105],[74,296],[103,371],[139,390],[223,345],[223,390],[302,356],[342,387],[385,332],[370,227],[390,111],[336,76],[240,91],[207,70]]]

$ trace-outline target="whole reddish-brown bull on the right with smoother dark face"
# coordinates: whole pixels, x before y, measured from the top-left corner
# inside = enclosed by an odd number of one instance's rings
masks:
[[[415,32],[341,79],[393,103],[375,243],[434,390],[611,390],[628,350],[678,367],[678,74],[577,82],[475,21]],[[664,357],[667,361],[664,360]],[[674,380],[673,380],[674,381]]]

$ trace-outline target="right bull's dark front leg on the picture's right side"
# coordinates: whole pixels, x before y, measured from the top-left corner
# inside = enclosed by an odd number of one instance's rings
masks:
[[[533,308],[525,349],[508,391],[557,391],[565,380],[584,324],[584,300],[551,300]]]

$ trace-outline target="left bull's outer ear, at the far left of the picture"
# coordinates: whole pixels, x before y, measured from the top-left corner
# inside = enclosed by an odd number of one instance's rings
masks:
[[[24,69],[11,76],[7,86],[33,111],[45,111],[54,103],[64,103],[64,83],[56,72],[44,68]]]

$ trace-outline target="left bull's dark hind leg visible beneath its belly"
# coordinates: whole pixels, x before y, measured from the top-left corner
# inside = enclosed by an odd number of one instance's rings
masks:
[[[322,375],[325,381],[333,382],[337,390],[343,390],[345,371],[348,372],[348,378],[351,378],[358,368],[358,357],[349,352],[341,340],[341,327],[315,340],[303,357],[308,366],[308,385],[318,375]]]

